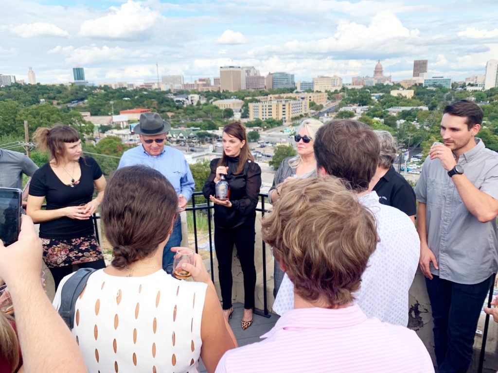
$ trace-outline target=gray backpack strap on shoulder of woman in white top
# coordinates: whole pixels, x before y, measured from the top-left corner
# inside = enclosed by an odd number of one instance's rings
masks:
[[[76,300],[87,284],[88,278],[95,271],[93,268],[80,268],[62,286],[58,312],[70,330],[74,327]]]

